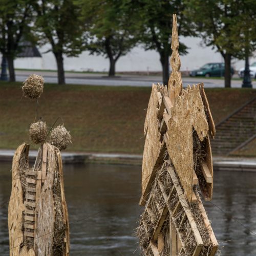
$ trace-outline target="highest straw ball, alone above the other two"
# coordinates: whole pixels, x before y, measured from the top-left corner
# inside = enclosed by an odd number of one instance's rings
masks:
[[[27,97],[37,99],[44,90],[44,82],[45,80],[42,76],[33,74],[23,83],[22,90]]]

